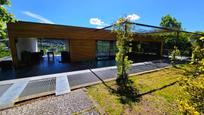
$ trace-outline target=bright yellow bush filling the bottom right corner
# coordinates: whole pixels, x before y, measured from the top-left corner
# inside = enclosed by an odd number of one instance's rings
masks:
[[[179,108],[184,114],[204,114],[204,77],[182,78],[180,85],[186,97],[179,99]]]

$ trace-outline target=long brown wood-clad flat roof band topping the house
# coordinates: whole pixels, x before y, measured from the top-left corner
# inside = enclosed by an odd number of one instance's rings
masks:
[[[7,28],[10,39],[37,37],[70,40],[116,40],[115,34],[110,30],[100,29],[99,31],[99,29],[87,27],[17,21],[15,23],[8,23]],[[135,34],[134,39],[138,41],[162,41],[159,38],[144,37],[139,34]]]

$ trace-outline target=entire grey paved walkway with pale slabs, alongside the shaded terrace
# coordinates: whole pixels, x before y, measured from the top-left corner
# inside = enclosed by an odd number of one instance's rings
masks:
[[[138,73],[169,66],[165,60],[135,63],[129,73]],[[70,89],[96,84],[116,78],[116,66],[86,69],[74,72],[35,76],[0,82],[0,109],[14,106],[16,102],[40,96],[69,93]],[[14,94],[14,89],[15,94]]]

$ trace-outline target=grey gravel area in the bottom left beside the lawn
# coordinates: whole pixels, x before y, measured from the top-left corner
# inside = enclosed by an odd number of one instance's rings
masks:
[[[0,115],[70,115],[76,113],[99,115],[92,101],[82,89],[62,96],[52,95],[33,99],[0,111]]]

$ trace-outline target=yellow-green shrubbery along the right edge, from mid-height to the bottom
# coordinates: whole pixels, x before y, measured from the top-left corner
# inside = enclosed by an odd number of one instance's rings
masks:
[[[179,108],[182,113],[189,115],[204,114],[204,48],[202,48],[203,37],[200,38],[199,43],[195,44],[192,52],[192,62],[196,72],[194,77],[185,77],[180,80],[182,92],[186,97],[181,97],[179,101]]]

